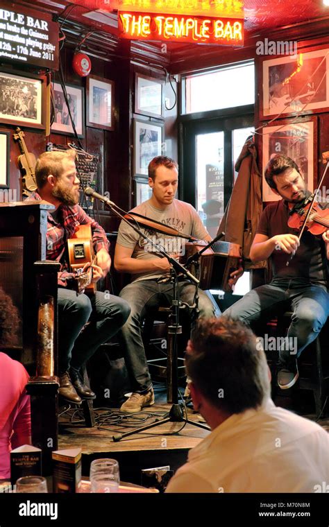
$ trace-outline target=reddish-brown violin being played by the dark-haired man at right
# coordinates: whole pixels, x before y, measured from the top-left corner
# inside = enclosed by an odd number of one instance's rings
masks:
[[[310,214],[308,214],[309,210]],[[301,207],[301,209],[294,212],[289,218],[289,227],[292,229],[301,229],[307,214],[308,218],[305,223],[305,229],[311,234],[317,236],[318,234],[323,234],[323,232],[326,232],[326,230],[329,229],[329,209],[321,209],[315,202],[313,204],[307,203],[305,207]]]

